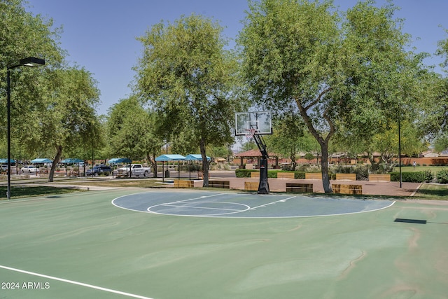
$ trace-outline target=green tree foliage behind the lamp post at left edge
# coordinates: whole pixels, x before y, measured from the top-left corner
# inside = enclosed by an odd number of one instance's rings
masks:
[[[27,2],[0,0],[0,76],[6,78],[7,67],[18,64],[25,57],[45,59],[45,67],[20,67],[11,70],[11,143],[15,158],[31,158],[41,148],[27,151],[25,136],[38,129],[34,123],[38,107],[45,101],[45,85],[54,69],[64,62],[64,51],[59,48],[60,29],[52,29],[51,19],[25,11]],[[6,79],[0,80],[0,137],[6,137]],[[6,142],[5,142],[6,143]]]

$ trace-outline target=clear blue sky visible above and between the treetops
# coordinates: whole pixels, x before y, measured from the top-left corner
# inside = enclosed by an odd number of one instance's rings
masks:
[[[120,99],[131,94],[132,67],[143,49],[137,36],[143,36],[160,21],[173,22],[181,15],[197,13],[214,18],[223,26],[223,34],[235,39],[241,30],[247,9],[246,0],[28,0],[30,11],[52,18],[63,26],[60,43],[68,51],[71,64],[90,71],[98,81],[101,102],[98,113],[106,114]],[[377,0],[377,5],[384,4]],[[396,18],[405,18],[404,32],[412,35],[416,52],[433,54],[437,41],[447,39],[447,0],[395,0],[401,10]],[[335,0],[343,11],[356,0]],[[438,64],[440,58],[426,60]]]

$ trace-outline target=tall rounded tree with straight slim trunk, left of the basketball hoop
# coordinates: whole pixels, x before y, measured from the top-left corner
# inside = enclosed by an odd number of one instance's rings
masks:
[[[237,106],[237,61],[225,50],[222,28],[200,15],[154,25],[145,36],[137,93],[158,112],[170,139],[200,147],[204,186],[209,183],[207,146],[232,144]]]

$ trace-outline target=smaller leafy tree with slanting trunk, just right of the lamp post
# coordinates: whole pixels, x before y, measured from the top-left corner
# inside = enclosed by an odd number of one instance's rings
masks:
[[[38,107],[34,132],[25,133],[28,146],[55,148],[56,154],[48,181],[53,181],[56,164],[64,148],[78,144],[91,144],[94,132],[99,130],[95,107],[99,102],[99,90],[92,74],[84,68],[69,67],[52,72]]]

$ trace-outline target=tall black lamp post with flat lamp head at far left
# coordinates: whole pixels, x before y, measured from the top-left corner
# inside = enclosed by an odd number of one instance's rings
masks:
[[[10,200],[11,196],[11,125],[10,125],[10,104],[11,104],[11,90],[10,90],[10,70],[15,69],[17,67],[38,67],[39,65],[45,65],[45,60],[35,57],[27,57],[25,59],[19,60],[19,64],[13,65],[12,67],[8,67],[8,102],[7,102],[7,121],[8,121],[8,130],[7,130],[7,139],[8,139],[8,190],[6,191],[6,197]]]

